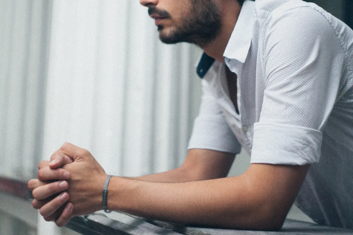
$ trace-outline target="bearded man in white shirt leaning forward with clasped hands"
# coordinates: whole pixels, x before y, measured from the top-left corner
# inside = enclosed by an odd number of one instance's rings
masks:
[[[297,197],[319,224],[353,229],[353,31],[300,0],[140,3],[161,41],[205,52],[187,158],[172,171],[109,181],[87,150],[65,143],[29,181],[41,215],[62,226],[103,206],[184,224],[276,230]],[[240,146],[251,165],[225,178]]]

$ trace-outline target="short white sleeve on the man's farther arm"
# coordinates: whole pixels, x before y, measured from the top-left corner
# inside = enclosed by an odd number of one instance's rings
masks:
[[[240,153],[241,146],[213,97],[207,81],[202,81],[202,100],[196,117],[188,149],[210,149],[227,153]]]

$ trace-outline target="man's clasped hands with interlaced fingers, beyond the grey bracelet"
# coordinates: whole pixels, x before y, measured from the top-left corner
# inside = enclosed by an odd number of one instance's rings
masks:
[[[61,227],[72,216],[101,210],[107,174],[88,150],[64,143],[38,169],[38,179],[31,179],[28,188],[33,207],[46,221]]]

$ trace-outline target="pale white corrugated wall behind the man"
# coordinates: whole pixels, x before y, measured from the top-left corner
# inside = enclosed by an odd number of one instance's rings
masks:
[[[66,141],[109,174],[184,161],[201,92],[199,49],[162,44],[137,0],[4,0],[0,11],[2,175],[34,177]],[[60,234],[38,225],[38,234]]]

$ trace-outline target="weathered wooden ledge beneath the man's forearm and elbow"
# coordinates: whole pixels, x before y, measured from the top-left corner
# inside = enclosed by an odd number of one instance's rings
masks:
[[[109,217],[107,217],[109,216]],[[113,212],[97,212],[72,218],[68,228],[85,235],[352,235],[353,230],[320,226],[286,219],[280,231],[250,231],[199,227],[184,227]]]

